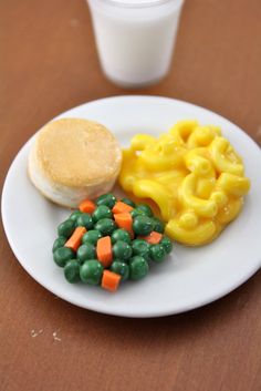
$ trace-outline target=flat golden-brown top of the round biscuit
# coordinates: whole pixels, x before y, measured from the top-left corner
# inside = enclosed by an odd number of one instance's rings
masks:
[[[80,119],[48,123],[36,135],[38,163],[50,179],[66,186],[86,186],[118,174],[122,151],[103,125]]]

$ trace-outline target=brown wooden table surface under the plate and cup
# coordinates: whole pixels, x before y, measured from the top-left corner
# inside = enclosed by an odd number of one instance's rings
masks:
[[[41,125],[103,96],[189,101],[261,142],[260,20],[260,0],[187,0],[170,74],[128,91],[101,73],[83,0],[2,0],[1,187],[17,152]],[[261,390],[260,272],[188,313],[117,318],[54,297],[22,269],[0,235],[1,391]]]

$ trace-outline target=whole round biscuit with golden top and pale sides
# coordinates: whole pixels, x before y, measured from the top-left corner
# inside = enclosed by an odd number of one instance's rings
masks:
[[[28,172],[33,185],[50,200],[77,207],[114,186],[122,150],[102,124],[61,119],[43,126],[30,150]]]

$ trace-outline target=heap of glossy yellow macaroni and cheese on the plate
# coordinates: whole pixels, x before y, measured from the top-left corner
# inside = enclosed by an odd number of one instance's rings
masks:
[[[123,151],[119,184],[159,208],[166,234],[189,246],[215,239],[243,205],[250,182],[217,126],[180,121],[158,138],[137,134]]]

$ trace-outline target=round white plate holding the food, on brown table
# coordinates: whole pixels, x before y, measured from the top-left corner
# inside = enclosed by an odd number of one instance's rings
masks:
[[[171,257],[154,265],[138,282],[116,294],[70,285],[52,260],[56,226],[69,210],[48,202],[27,176],[32,138],[14,158],[2,193],[2,219],[10,246],[22,267],[54,295],[80,307],[125,317],[158,317],[211,302],[250,278],[261,266],[261,154],[238,126],[208,110],[157,96],[118,96],[72,109],[60,117],[95,120],[111,128],[122,145],[137,132],[159,134],[178,120],[197,119],[222,128],[243,157],[251,191],[240,216],[212,244],[200,248],[175,245]]]

